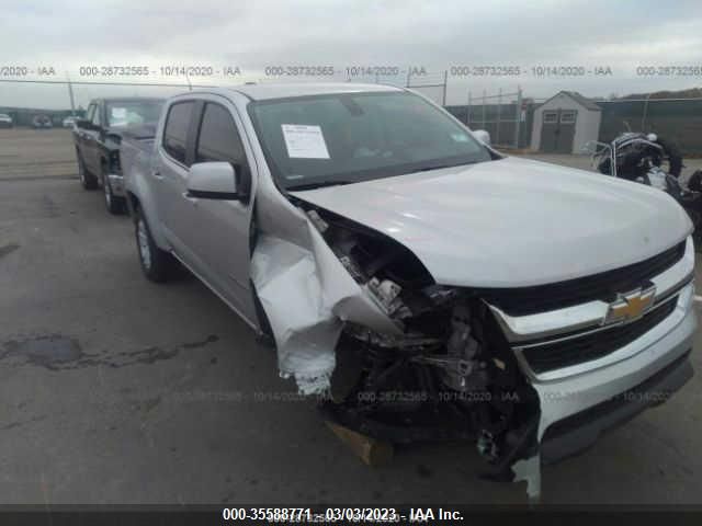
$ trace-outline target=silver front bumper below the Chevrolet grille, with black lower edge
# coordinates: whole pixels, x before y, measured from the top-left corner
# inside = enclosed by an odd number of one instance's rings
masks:
[[[680,291],[668,319],[632,342],[635,354],[559,380],[532,379],[541,403],[539,439],[544,460],[588,447],[602,431],[665,401],[690,378],[687,354],[697,329],[693,295],[692,284]]]

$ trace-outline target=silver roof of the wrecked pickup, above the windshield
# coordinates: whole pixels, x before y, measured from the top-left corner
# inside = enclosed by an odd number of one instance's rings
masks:
[[[358,93],[369,91],[401,91],[401,88],[383,84],[360,84],[355,82],[299,82],[299,83],[262,83],[241,84],[220,88],[213,91],[237,91],[253,101],[267,99],[286,99],[291,96],[324,95],[331,93]],[[224,93],[223,93],[224,94]]]

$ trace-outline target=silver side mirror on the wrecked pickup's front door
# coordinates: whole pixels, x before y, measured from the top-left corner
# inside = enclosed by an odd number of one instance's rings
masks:
[[[228,162],[197,162],[190,167],[188,195],[203,199],[247,201],[248,173]]]

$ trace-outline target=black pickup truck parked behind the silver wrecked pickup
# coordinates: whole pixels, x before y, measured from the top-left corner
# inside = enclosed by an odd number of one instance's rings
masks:
[[[122,134],[139,127],[156,127],[162,99],[94,99],[86,117],[76,121],[73,140],[78,174],[86,190],[102,186],[110,214],[125,210],[124,183],[120,167]]]

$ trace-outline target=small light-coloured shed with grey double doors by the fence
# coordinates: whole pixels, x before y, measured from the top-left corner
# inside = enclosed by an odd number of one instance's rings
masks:
[[[544,153],[582,153],[597,140],[602,110],[576,91],[561,91],[534,111],[531,149]]]

